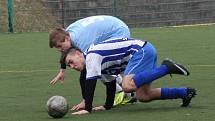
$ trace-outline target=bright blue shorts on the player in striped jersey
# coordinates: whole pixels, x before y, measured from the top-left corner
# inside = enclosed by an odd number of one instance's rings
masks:
[[[157,66],[157,52],[149,42],[136,52],[129,60],[124,75],[137,74],[145,70],[154,69]]]

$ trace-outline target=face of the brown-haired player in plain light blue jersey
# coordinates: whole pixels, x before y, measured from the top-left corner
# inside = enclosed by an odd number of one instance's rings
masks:
[[[64,42],[58,42],[56,48],[60,52],[64,52],[71,47],[71,41],[69,37],[65,37]]]

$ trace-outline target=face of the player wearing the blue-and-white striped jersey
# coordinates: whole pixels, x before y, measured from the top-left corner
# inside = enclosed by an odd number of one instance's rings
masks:
[[[66,57],[66,64],[76,71],[82,71],[85,67],[85,58],[79,51],[76,51],[73,54],[69,54]]]

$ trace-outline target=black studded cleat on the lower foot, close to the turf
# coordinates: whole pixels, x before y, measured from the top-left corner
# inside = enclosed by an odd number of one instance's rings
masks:
[[[187,107],[190,104],[192,98],[195,97],[195,95],[196,95],[196,89],[187,88],[187,96],[182,99],[181,107]]]

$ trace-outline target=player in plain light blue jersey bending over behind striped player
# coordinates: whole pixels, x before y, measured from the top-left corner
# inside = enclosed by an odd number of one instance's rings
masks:
[[[91,16],[72,23],[65,30],[56,28],[51,31],[49,35],[49,46],[50,48],[57,48],[61,52],[71,47],[78,47],[82,52],[85,52],[91,44],[123,37],[130,37],[130,31],[128,26],[120,19],[106,15]],[[61,83],[64,82],[65,68],[65,64],[62,64],[58,75],[50,81],[51,84],[55,84],[59,80]],[[82,80],[85,78],[85,72],[84,70],[81,72],[81,87],[83,87]],[[120,91],[121,87],[119,85],[117,87],[118,91]],[[122,96],[119,95],[119,97]],[[78,110],[80,107],[83,106],[77,105],[73,109]]]

